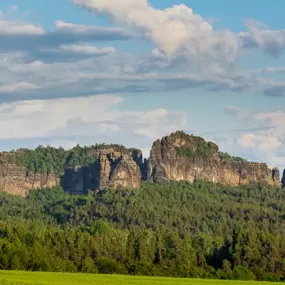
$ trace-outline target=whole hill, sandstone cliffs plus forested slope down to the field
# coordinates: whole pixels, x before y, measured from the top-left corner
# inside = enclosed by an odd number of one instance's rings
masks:
[[[276,168],[183,132],[155,141],[148,160],[104,144],[0,157],[0,269],[285,276]]]

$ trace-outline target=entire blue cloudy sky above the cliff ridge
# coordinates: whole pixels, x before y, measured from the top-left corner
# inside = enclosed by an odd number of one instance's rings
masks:
[[[0,150],[184,130],[285,168],[284,0],[1,0]]]

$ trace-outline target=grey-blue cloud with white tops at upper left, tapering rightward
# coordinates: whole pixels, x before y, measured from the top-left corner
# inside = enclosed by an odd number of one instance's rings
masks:
[[[118,27],[100,27],[56,21],[54,31],[29,22],[24,13],[14,9],[0,10],[0,53],[25,52],[37,56],[42,50],[59,49],[61,45],[93,45],[98,41],[129,40],[133,37]]]

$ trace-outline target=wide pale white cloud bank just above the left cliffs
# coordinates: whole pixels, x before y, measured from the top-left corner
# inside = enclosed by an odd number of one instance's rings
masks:
[[[57,143],[77,139],[83,143],[116,142],[147,148],[157,137],[186,124],[183,112],[121,111],[122,102],[118,95],[97,95],[2,103],[0,139],[44,138]]]

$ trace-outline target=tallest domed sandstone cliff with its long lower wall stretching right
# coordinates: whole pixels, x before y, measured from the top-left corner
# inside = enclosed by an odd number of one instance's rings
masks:
[[[278,169],[271,170],[264,163],[224,157],[216,144],[182,132],[154,142],[148,179],[153,182],[200,179],[233,186],[260,182],[280,186]]]

